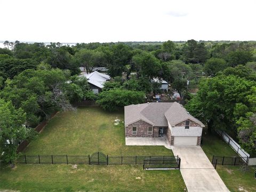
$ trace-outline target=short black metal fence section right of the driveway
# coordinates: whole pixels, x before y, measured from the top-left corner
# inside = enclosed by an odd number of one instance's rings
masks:
[[[248,157],[220,157],[220,156],[213,156],[212,157],[212,164],[213,165],[243,165],[244,158]]]

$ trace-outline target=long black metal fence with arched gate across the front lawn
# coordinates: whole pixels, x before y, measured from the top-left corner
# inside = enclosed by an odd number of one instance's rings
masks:
[[[110,156],[100,152],[92,155],[21,155],[17,159],[17,163],[25,164],[91,164],[91,165],[137,165],[144,164],[147,158],[160,158],[164,159],[167,164],[167,159],[175,159],[174,156],[163,155],[135,155],[135,156]],[[171,161],[171,160],[170,160]]]

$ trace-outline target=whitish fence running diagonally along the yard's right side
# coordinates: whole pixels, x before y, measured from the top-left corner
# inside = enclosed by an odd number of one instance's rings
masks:
[[[234,141],[227,133],[225,133],[224,131],[220,131],[220,130],[216,130],[216,132],[220,135],[220,137],[222,137],[222,139],[228,143],[231,148],[233,148],[236,153],[242,157],[243,161],[245,163],[248,163],[249,157],[250,155],[248,153],[246,153],[246,151],[244,149],[242,149],[238,143],[236,141]]]

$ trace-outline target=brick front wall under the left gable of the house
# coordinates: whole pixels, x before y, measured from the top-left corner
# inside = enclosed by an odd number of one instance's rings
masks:
[[[132,127],[137,127],[137,134],[132,134]],[[148,134],[148,127],[153,127],[153,125],[142,120],[132,123],[125,127],[125,137],[153,137],[153,134]]]

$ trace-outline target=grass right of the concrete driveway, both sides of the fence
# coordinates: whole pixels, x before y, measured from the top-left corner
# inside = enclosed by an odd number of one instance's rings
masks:
[[[237,156],[235,151],[217,135],[203,135],[202,148],[212,161],[212,156]],[[217,172],[230,191],[256,191],[255,167],[243,171],[241,166],[217,165]]]

